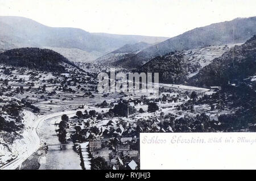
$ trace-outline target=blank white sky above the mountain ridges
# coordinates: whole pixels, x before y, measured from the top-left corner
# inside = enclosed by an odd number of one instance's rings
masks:
[[[88,32],[174,37],[256,16],[255,7],[255,0],[0,0],[0,15]]]

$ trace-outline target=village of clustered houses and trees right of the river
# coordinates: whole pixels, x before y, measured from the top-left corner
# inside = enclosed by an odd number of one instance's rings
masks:
[[[88,142],[85,147],[78,148],[82,160],[82,152],[89,151],[92,169],[139,169],[139,133],[179,131],[179,125],[173,127],[173,124],[175,119],[184,116],[184,108],[181,110],[180,106],[215,91],[213,87],[196,93],[175,86],[162,87],[159,97],[122,93],[118,100],[105,99],[95,107],[82,105],[76,116],[61,117],[59,125],[64,128],[59,126],[59,138],[64,142]],[[108,96],[104,94],[103,97]],[[209,106],[198,107],[196,112],[209,109]],[[185,112],[191,116],[191,113],[195,114],[195,108]],[[88,160],[87,154],[85,160]]]

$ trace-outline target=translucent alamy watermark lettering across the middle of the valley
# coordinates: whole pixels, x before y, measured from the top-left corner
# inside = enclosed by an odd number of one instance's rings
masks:
[[[154,81],[152,79],[154,78]],[[98,92],[123,92],[129,94],[159,95],[159,73],[110,73],[98,74]]]

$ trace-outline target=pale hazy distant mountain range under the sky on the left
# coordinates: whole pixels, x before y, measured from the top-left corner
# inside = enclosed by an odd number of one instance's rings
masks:
[[[58,47],[77,48],[86,52],[96,51],[104,54],[125,44],[134,44],[142,40],[156,43],[167,39],[90,33],[79,28],[53,28],[16,16],[0,16],[0,24],[0,49]]]

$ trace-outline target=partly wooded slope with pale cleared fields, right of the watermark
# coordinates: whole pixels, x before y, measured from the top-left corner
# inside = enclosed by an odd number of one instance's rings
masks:
[[[209,65],[214,58],[236,44],[209,46],[167,53],[164,56],[152,58],[136,71],[158,72],[160,83],[184,83],[189,77]]]

